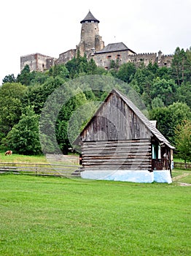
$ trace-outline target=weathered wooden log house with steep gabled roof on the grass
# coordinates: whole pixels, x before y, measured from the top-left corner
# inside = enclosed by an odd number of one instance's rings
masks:
[[[117,89],[109,93],[78,141],[82,149],[82,178],[139,181],[144,174],[152,176],[152,182],[153,171],[171,176],[174,147]]]

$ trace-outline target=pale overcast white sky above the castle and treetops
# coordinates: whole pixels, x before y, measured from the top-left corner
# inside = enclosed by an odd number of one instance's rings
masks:
[[[191,0],[4,0],[0,3],[0,84],[20,73],[20,56],[58,58],[76,48],[90,10],[108,45],[123,42],[136,53],[173,54],[191,46]]]

